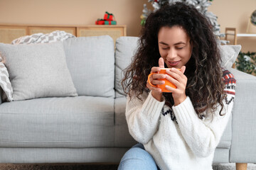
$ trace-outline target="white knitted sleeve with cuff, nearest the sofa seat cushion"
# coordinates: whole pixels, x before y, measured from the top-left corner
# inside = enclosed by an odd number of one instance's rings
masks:
[[[146,144],[151,140],[159,125],[161,109],[165,101],[157,101],[152,95],[142,94],[139,98],[127,99],[126,119],[129,133],[134,140]]]

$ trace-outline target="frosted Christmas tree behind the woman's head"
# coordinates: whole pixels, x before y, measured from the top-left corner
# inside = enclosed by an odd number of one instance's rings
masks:
[[[220,33],[220,25],[217,22],[218,17],[215,16],[215,14],[213,14],[212,12],[208,11],[208,6],[211,5],[210,1],[213,1],[213,0],[149,0],[149,2],[151,2],[152,6],[154,8],[154,11],[161,8],[161,6],[164,5],[164,3],[166,3],[166,2],[169,2],[169,4],[173,4],[176,1],[181,1],[181,2],[184,2],[186,4],[195,6],[196,9],[198,9],[198,11],[203,13],[203,15],[206,16],[206,18],[209,19],[211,25],[213,26],[213,33],[215,35],[217,35],[218,37],[225,37],[225,34]],[[147,16],[149,16],[149,14],[152,11],[146,7],[146,4],[144,4],[144,9],[143,9],[142,12],[143,13],[142,13],[142,16],[141,16],[141,19],[142,19],[141,25],[144,26]],[[220,42],[222,44],[227,44],[228,41],[220,40]]]

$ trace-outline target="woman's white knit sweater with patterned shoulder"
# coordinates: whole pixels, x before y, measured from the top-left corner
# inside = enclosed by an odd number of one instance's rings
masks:
[[[142,101],[128,98],[129,132],[144,145],[161,170],[211,170],[215,148],[233,108],[235,89],[230,89],[230,85],[225,89],[225,115],[219,115],[219,106],[213,117],[203,120],[198,118],[189,97],[172,108],[165,101],[157,101],[151,92],[142,94]]]

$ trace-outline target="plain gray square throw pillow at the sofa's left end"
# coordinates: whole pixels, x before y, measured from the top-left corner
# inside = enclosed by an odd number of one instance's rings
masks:
[[[77,96],[65,60],[63,42],[8,45],[0,43],[14,101],[51,96]]]

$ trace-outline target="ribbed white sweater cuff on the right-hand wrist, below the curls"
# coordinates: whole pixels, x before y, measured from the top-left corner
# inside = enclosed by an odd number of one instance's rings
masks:
[[[186,125],[186,123],[198,118],[191,99],[188,96],[185,101],[180,103],[178,106],[173,106],[172,109],[177,120],[180,121],[182,125]]]

